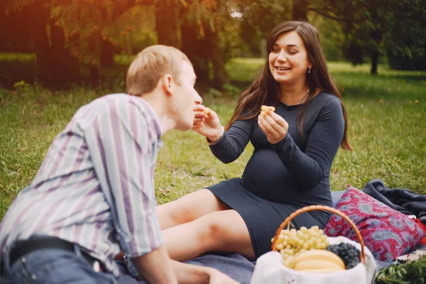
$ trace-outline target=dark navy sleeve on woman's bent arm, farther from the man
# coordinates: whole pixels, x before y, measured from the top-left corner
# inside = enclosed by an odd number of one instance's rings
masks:
[[[307,137],[305,152],[300,151],[290,133],[273,149],[288,172],[305,190],[313,190],[332,167],[344,133],[342,104],[336,97],[324,104]]]

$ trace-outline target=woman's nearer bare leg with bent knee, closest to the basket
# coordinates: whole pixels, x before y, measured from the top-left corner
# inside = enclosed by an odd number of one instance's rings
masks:
[[[239,253],[255,259],[249,230],[234,209],[204,214],[192,222],[163,230],[163,236],[170,258],[176,261],[186,261],[208,251]]]

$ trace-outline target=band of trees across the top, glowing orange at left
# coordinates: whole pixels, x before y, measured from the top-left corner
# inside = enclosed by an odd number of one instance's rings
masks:
[[[220,87],[228,82],[227,59],[265,56],[273,26],[322,18],[321,28],[327,31],[320,32],[327,35],[327,48],[340,45],[354,64],[368,58],[374,73],[379,55],[386,55],[394,68],[426,69],[425,2],[4,0],[0,50],[33,51],[39,79],[63,84],[79,80],[84,68],[99,80],[114,53],[136,53],[153,43],[173,45],[188,55],[200,79],[212,79]]]

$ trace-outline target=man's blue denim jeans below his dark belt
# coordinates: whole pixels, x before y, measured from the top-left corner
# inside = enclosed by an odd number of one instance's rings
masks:
[[[3,262],[0,283],[116,283],[114,275],[95,272],[79,254],[62,249],[42,249],[26,254],[12,266]]]

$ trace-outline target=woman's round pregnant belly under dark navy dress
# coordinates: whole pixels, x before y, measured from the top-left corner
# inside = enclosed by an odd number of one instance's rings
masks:
[[[246,190],[273,202],[291,202],[299,191],[292,176],[272,149],[253,153],[244,169],[242,181]]]

